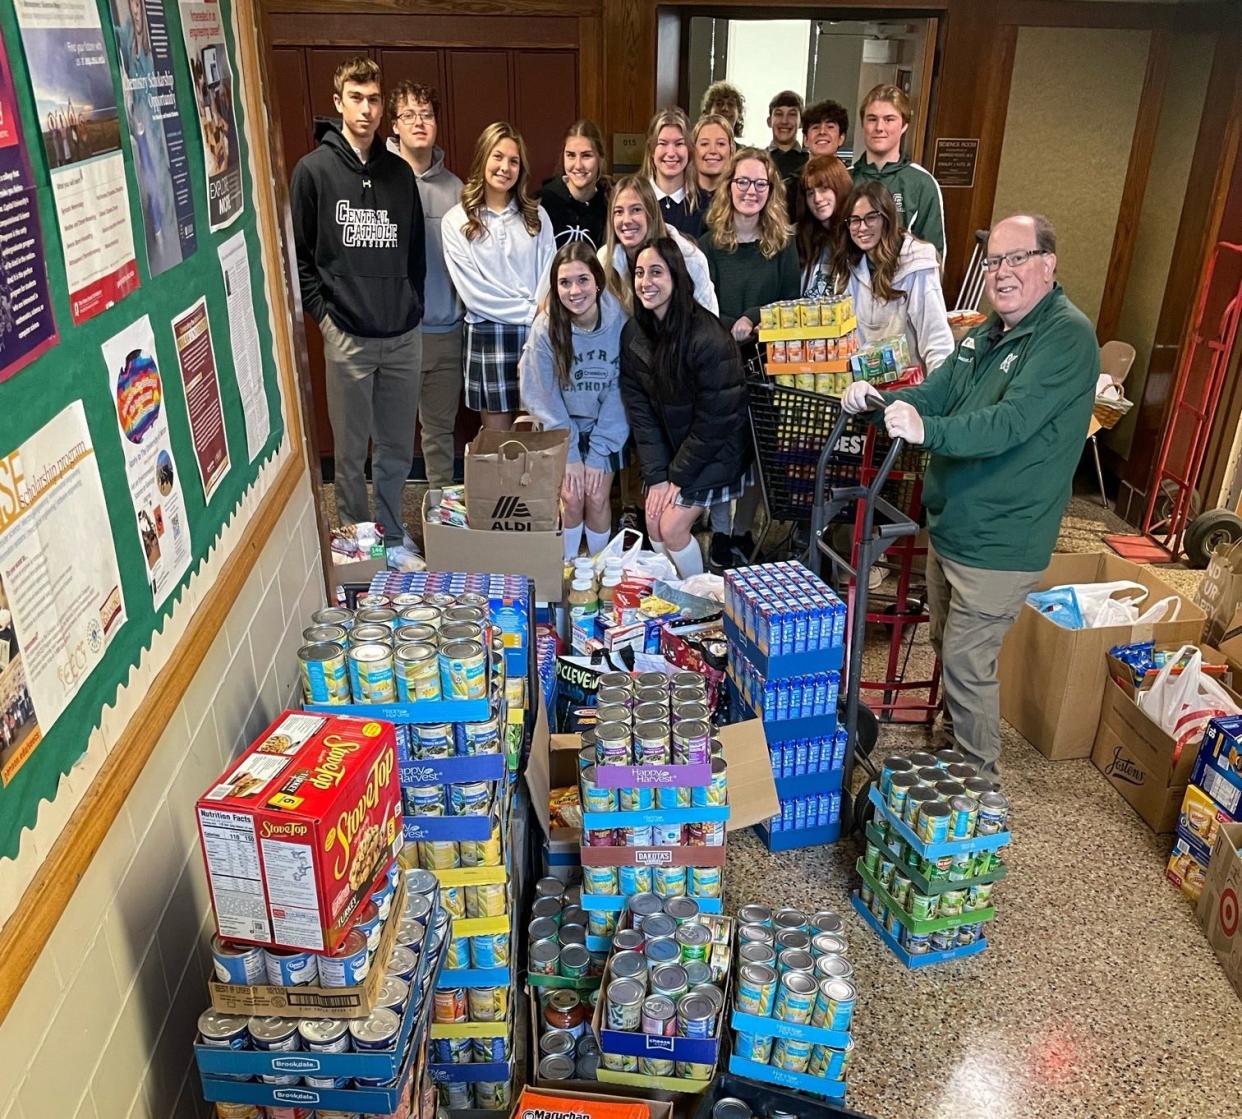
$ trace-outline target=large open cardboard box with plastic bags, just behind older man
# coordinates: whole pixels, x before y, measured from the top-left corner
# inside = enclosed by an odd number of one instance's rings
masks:
[[[1053,555],[1037,589],[1120,579],[1143,584],[1149,604],[1177,595],[1145,568],[1103,551]],[[1089,756],[1105,694],[1105,653],[1114,645],[1134,641],[1161,646],[1199,641],[1203,611],[1190,599],[1179,597],[1176,621],[1100,630],[1067,630],[1023,605],[1001,648],[1001,717],[1053,761]]]

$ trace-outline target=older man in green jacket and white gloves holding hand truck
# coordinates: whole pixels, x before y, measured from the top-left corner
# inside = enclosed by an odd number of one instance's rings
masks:
[[[1099,347],[1057,271],[1046,217],[1017,215],[987,238],[994,312],[914,389],[856,381],[846,411],[884,409],[891,436],[930,452],[928,606],[944,669],[945,732],[995,776],[1001,642],[1057,543],[1090,420]]]

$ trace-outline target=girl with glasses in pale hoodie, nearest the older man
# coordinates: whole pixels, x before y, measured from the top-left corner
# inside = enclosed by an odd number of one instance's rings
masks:
[[[910,358],[932,373],[953,353],[935,247],[903,230],[893,195],[864,179],[845,205],[846,236],[833,270],[853,298],[863,343],[904,334]]]

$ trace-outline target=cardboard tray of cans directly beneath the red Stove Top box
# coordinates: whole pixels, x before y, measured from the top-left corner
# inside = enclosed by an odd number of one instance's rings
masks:
[[[396,894],[397,867],[389,868],[384,882],[370,900],[361,907],[353,929],[334,953],[317,953],[304,949],[260,948],[255,944],[241,944],[211,938],[211,958],[214,977],[222,984],[241,986],[267,985],[273,987],[320,986],[353,987],[361,984],[370,972],[375,950],[380,944],[384,923],[390,919],[392,899]],[[435,887],[435,882],[432,882]],[[397,914],[401,928],[397,939],[405,933],[416,936],[415,923],[426,924],[427,912],[433,902],[414,902],[406,894],[406,913],[409,907],[419,907],[414,914],[419,922],[407,920],[405,914]],[[426,904],[426,912],[421,907]],[[414,941],[416,945],[421,940]]]

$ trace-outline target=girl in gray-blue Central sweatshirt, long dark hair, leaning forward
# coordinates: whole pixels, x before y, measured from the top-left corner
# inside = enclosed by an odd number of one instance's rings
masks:
[[[596,555],[612,534],[612,476],[630,437],[619,370],[626,314],[609,293],[604,268],[584,242],[553,257],[548,309],[530,328],[518,366],[522,406],[546,430],[569,431],[561,487],[565,559]]]

